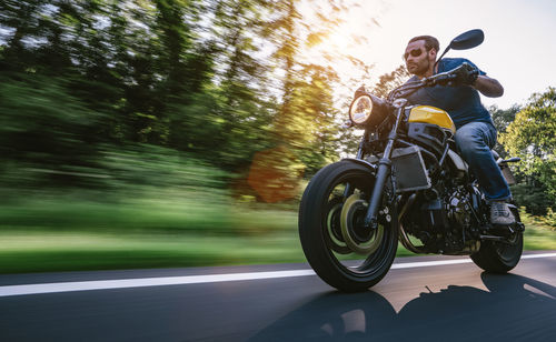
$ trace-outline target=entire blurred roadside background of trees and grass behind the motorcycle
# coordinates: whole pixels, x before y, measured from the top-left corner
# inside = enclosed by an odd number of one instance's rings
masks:
[[[353,91],[409,77],[340,47],[380,31],[347,29],[358,2],[0,1],[0,272],[304,261]],[[556,249],[556,90],[490,110],[526,248]]]

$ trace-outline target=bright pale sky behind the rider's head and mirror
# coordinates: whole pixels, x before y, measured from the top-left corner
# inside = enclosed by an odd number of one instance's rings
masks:
[[[471,50],[453,50],[446,57],[471,60],[505,88],[500,98],[481,97],[486,105],[507,109],[524,104],[534,92],[556,87],[556,1],[554,0],[365,0],[353,1],[346,21],[324,44],[341,49],[374,64],[371,80],[395,70],[404,61],[407,41],[429,34],[440,51],[456,36],[481,29],[485,41]],[[354,43],[358,32],[368,39]],[[337,67],[339,73],[351,72]]]

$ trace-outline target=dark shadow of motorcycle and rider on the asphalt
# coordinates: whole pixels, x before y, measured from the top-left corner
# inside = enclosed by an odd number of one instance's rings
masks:
[[[556,288],[515,274],[481,273],[489,291],[449,285],[396,312],[377,292],[329,292],[248,341],[549,341]]]

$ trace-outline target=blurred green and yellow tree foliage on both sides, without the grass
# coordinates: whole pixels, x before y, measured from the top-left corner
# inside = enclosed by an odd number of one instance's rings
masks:
[[[72,177],[43,178],[41,187],[82,187],[80,174],[110,173],[106,155],[137,145],[211,164],[240,192],[260,155],[281,168],[268,174],[310,177],[358,141],[340,129],[351,98],[337,94],[361,78],[342,81],[335,62],[363,78],[373,64],[322,47],[347,2],[0,1],[0,178],[10,187],[6,174],[42,170]],[[364,34],[346,39],[368,43]],[[400,66],[373,92],[385,97],[408,78]],[[493,112],[500,132],[507,128],[505,147],[527,161],[519,175],[553,201],[554,92]]]

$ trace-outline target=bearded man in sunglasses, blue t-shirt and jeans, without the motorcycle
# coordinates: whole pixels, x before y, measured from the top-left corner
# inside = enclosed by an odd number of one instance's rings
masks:
[[[430,36],[418,36],[409,40],[404,59],[407,70],[414,74],[408,82],[451,70],[463,63],[475,64],[463,58],[445,58],[436,61],[438,40]],[[477,69],[478,70],[478,69]],[[504,93],[502,84],[478,70],[478,76],[461,73],[453,87],[423,88],[407,97],[410,103],[445,109],[456,125],[457,148],[477,177],[478,183],[490,203],[490,222],[508,225],[515,218],[506,201],[512,198],[509,187],[497,165],[490,149],[496,143],[496,129],[490,113],[480,103],[479,92],[497,98]],[[455,87],[454,87],[455,86]]]

